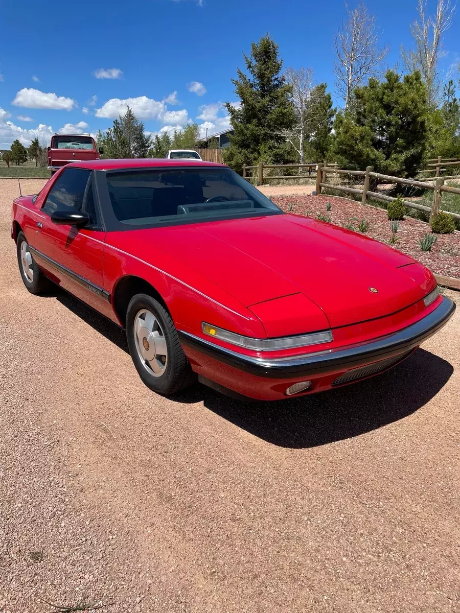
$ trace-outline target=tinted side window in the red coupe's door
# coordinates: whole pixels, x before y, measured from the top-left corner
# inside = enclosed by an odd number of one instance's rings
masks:
[[[81,168],[66,168],[56,180],[48,193],[42,211],[52,215],[54,211],[65,211],[69,208],[81,211],[86,184],[91,176],[91,170]]]

